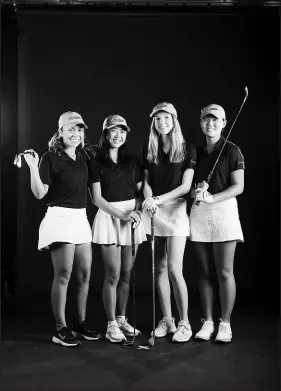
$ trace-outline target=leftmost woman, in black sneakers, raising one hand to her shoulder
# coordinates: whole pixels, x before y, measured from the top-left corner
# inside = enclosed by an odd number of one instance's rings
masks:
[[[101,337],[85,323],[92,264],[92,235],[86,215],[87,160],[91,148],[85,145],[85,128],[80,114],[65,112],[40,164],[34,150],[26,150],[24,154],[30,169],[31,190],[38,199],[46,197],[48,206],[39,228],[38,249],[51,252],[54,268],[51,302],[57,328],[52,341],[62,346],[77,346],[81,338]],[[74,258],[78,314],[74,327],[68,327],[65,307]]]

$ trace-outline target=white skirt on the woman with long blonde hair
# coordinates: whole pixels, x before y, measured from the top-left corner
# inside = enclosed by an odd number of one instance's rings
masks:
[[[143,212],[145,232],[151,234],[151,215]],[[186,212],[185,198],[176,198],[159,205],[154,215],[155,236],[187,236],[190,235],[189,219]]]

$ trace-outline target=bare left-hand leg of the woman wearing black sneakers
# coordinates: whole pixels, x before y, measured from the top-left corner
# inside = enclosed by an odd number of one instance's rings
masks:
[[[54,267],[54,279],[51,291],[51,302],[57,326],[66,326],[65,305],[68,283],[70,280],[75,245],[62,243],[51,250]]]

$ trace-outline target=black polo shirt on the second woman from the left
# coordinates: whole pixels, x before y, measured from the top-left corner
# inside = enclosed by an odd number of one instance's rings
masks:
[[[89,183],[100,182],[101,194],[108,202],[127,201],[136,197],[141,182],[140,165],[133,155],[126,156],[126,163],[115,164],[111,159],[100,162],[93,159],[89,166]]]

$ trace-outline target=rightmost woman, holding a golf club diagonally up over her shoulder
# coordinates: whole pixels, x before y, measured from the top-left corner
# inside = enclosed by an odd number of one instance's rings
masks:
[[[194,202],[190,212],[191,240],[194,242],[199,265],[199,288],[204,318],[195,338],[209,340],[215,334],[213,321],[213,259],[219,282],[221,318],[215,340],[230,342],[230,317],[236,286],[233,262],[236,243],[243,241],[236,197],[244,188],[244,157],[230,141],[222,151],[209,185],[204,181],[224,144],[222,131],[226,126],[224,109],[211,104],[201,110],[200,125],[205,143],[197,148]]]

